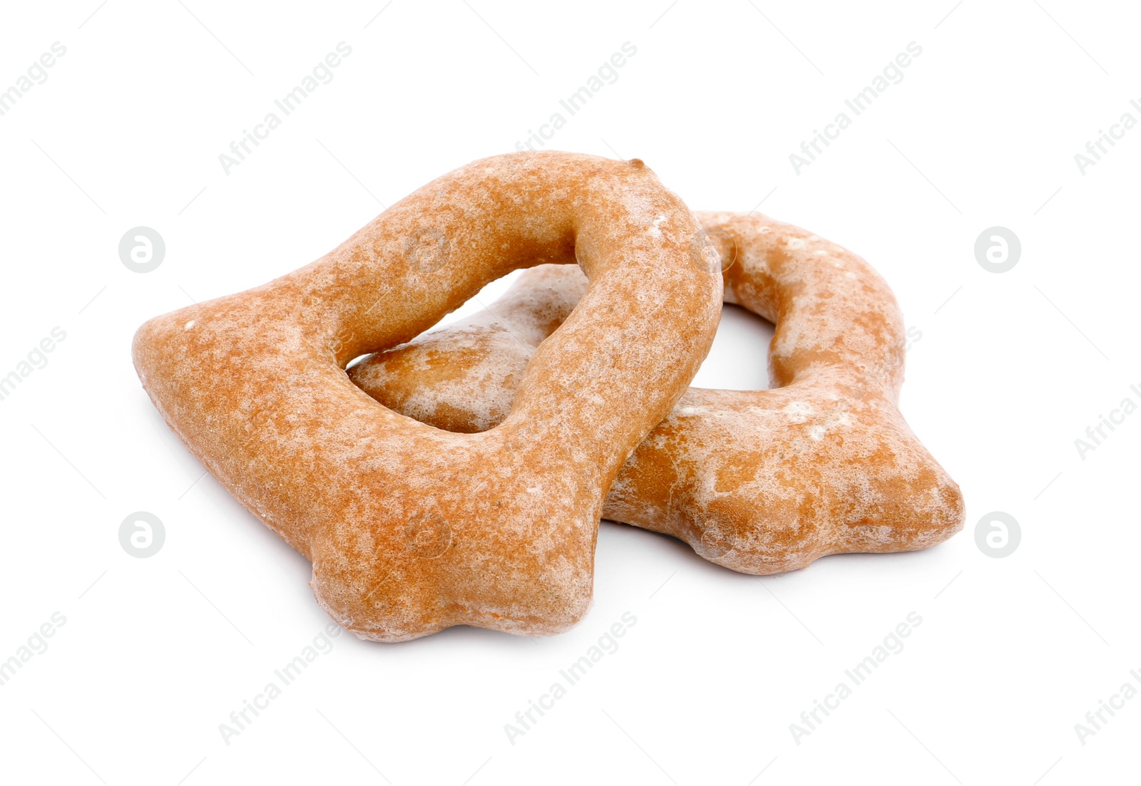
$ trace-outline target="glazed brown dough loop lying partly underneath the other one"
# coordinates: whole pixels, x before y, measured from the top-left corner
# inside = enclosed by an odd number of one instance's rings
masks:
[[[626,462],[604,518],[751,574],[923,549],[958,532],[958,486],[899,413],[905,333],[887,283],[803,229],[760,214],[698,218],[723,260],[725,302],[776,325],[777,387],[690,388]],[[349,376],[424,422],[491,428],[584,287],[573,268],[527,270],[487,311],[373,355]]]

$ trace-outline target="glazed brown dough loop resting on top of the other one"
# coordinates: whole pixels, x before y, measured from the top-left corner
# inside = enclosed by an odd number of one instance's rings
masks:
[[[482,433],[397,414],[345,374],[519,267],[577,259],[590,285]],[[458,624],[552,634],[590,606],[602,500],[697,372],[718,254],[641,161],[484,159],[311,265],[144,324],[135,366],[170,428],[313,562],[362,638]],[[531,355],[531,353],[528,353]]]

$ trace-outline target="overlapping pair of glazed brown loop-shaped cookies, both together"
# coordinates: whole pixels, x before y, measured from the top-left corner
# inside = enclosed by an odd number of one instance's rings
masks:
[[[487,311],[421,335],[519,268]],[[687,390],[722,301],[776,325],[772,390]],[[601,517],[753,574],[963,522],[897,407],[883,279],[762,216],[695,216],[638,160],[477,161],[307,267],[147,322],[133,356],[363,638],[568,629]]]

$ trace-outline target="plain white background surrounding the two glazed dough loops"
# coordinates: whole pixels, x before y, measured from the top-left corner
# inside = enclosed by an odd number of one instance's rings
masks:
[[[67,52],[0,118],[0,375],[52,327],[66,339],[0,402],[0,658],[54,613],[66,623],[0,687],[0,778],[1135,781],[1141,699],[1084,745],[1075,724],[1141,670],[1141,414],[1084,460],[1074,440],[1141,402],[1141,128],[1084,175],[1074,155],[1126,111],[1141,120],[1136,8],[385,2],[5,3],[0,89],[52,42]],[[224,173],[218,155],[340,41],[333,81]],[[872,262],[922,333],[903,410],[962,485],[964,532],[758,578],[607,522],[572,632],[342,634],[227,745],[219,724],[329,619],[306,560],[163,426],[132,332],[515,149],[625,41],[620,79],[549,146],[641,157],[694,209],[763,203]],[[905,79],[794,172],[788,154],[911,41]],[[118,254],[139,225],[167,244],[144,275]],[[1022,244],[1004,274],[973,252],[995,225]],[[697,383],[764,387],[769,334],[727,309]],[[119,543],[140,510],[165,528],[148,559]],[[1004,559],[973,535],[996,510],[1021,526]],[[504,724],[626,611],[620,649],[512,745]],[[911,611],[905,649],[798,745],[790,724]]]

